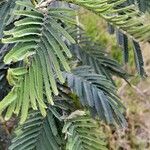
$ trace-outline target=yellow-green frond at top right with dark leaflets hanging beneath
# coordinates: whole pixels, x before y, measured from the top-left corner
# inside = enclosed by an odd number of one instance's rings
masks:
[[[149,23],[144,21],[144,15],[140,11],[137,10],[137,7],[130,4],[139,4],[148,6],[148,2],[138,1],[131,2],[127,0],[114,0],[114,1],[101,1],[97,0],[67,0],[67,2],[71,2],[77,5],[80,5],[90,11],[100,15],[104,18],[108,23],[109,27],[112,29],[113,27],[117,28],[117,38],[118,43],[123,49],[124,62],[128,63],[129,59],[129,51],[128,51],[128,37],[133,41],[134,52],[138,53],[140,50],[140,45],[137,41],[149,41]],[[141,8],[140,7],[140,8]],[[143,9],[143,8],[141,8]],[[145,18],[146,20],[146,18]],[[109,28],[110,29],[110,28]],[[112,30],[111,30],[112,31]],[[114,30],[113,32],[114,33]],[[128,36],[130,35],[130,36]],[[136,43],[136,47],[135,47]],[[138,49],[137,48],[138,45]],[[141,53],[141,52],[140,52]],[[139,53],[138,53],[139,54]],[[138,73],[145,77],[146,73],[144,71],[144,63],[142,55],[140,57],[135,57],[135,64],[137,66]],[[140,64],[140,65],[139,65]]]

